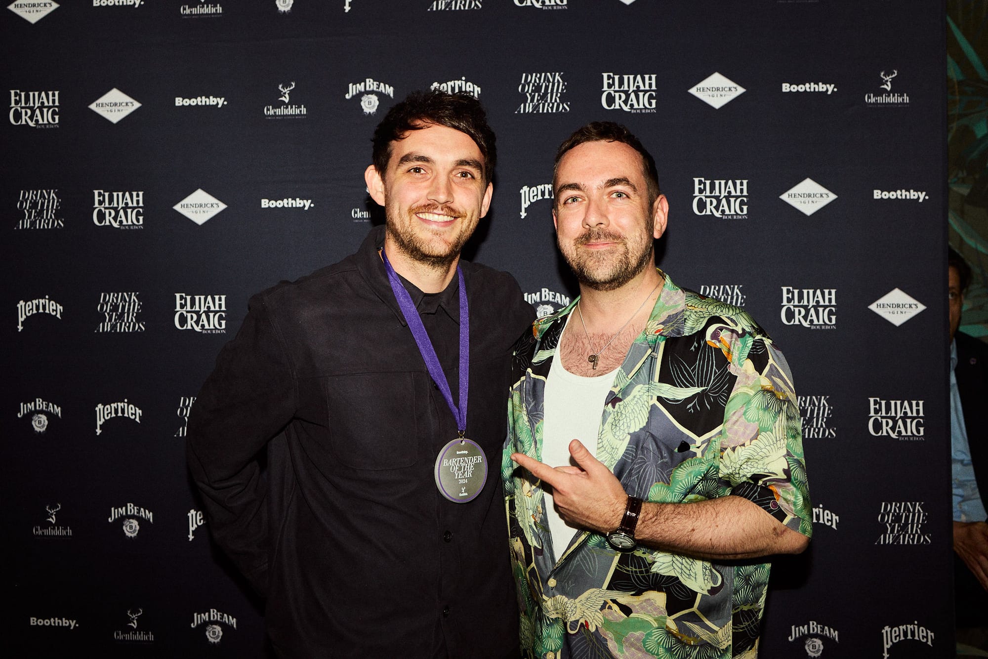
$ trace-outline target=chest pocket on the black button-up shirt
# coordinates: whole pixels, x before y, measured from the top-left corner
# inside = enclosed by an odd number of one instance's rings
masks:
[[[326,378],[333,453],[355,469],[400,469],[419,459],[424,390],[411,372]]]

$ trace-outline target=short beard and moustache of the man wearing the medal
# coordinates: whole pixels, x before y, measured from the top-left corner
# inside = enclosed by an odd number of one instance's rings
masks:
[[[449,205],[424,204],[402,210],[396,206],[387,206],[387,223],[385,230],[405,256],[429,268],[448,268],[459,257],[459,251],[470,238],[471,222],[459,209]],[[422,226],[416,232],[414,226],[420,220],[415,217],[418,212],[436,212],[454,215],[453,222],[460,223],[460,230],[453,235],[453,240],[436,236],[428,227]]]

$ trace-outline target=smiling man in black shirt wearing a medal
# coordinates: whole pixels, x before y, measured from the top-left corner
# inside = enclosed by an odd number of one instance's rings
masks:
[[[498,474],[535,314],[510,275],[459,261],[494,162],[474,99],[394,106],[365,175],[385,226],[253,296],[196,399],[190,468],[280,656],[518,656]]]

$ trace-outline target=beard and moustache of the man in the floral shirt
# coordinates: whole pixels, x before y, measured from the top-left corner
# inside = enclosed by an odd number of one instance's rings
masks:
[[[556,242],[577,281],[595,290],[621,288],[648,267],[654,250],[651,228],[638,235],[621,237],[602,229],[587,229],[573,241],[571,247]],[[614,242],[617,247],[606,252],[581,250],[592,242]]]

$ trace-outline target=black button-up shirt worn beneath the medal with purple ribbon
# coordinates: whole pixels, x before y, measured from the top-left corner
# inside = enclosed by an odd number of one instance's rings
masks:
[[[499,471],[511,346],[535,314],[510,275],[460,262],[466,437],[488,475],[473,501],[447,501],[433,469],[456,423],[388,285],[382,241],[372,229],[356,254],[251,298],[189,420],[210,530],[267,596],[284,656],[518,656]],[[457,278],[436,294],[406,288],[456,401]]]

